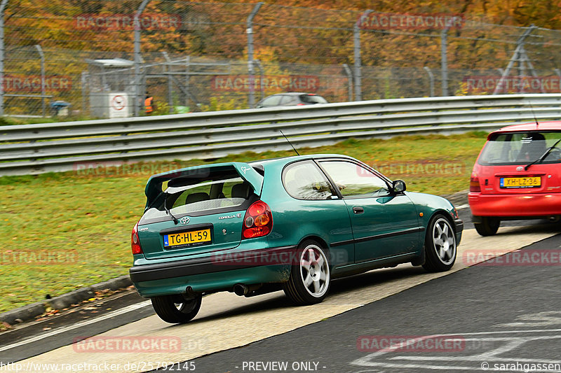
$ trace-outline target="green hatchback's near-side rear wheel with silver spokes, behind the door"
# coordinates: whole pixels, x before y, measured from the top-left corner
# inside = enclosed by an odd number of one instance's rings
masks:
[[[287,297],[295,304],[316,304],[327,296],[331,269],[324,248],[311,239],[297,249],[297,263],[292,263],[290,278],[283,284]]]

